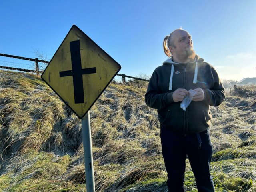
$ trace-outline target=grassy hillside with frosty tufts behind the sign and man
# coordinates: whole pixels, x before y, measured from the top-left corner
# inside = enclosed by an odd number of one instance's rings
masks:
[[[90,110],[97,192],[166,192],[146,85],[110,83]],[[212,107],[216,192],[256,191],[256,87]],[[0,71],[0,191],[86,191],[80,120],[42,80]],[[186,159],[186,191],[197,192]]]

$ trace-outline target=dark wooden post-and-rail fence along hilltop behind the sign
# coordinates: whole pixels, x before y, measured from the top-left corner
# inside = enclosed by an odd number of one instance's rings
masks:
[[[34,62],[35,62],[35,66],[36,66],[36,70],[29,70],[29,69],[22,69],[22,68],[14,68],[14,67],[7,67],[7,66],[0,66],[0,68],[9,69],[9,70],[16,70],[16,71],[32,72],[32,73],[36,73],[38,76],[39,76],[40,73],[43,73],[43,72],[44,72],[44,71],[39,71],[38,62],[49,63],[49,61],[39,60],[38,58],[32,59],[32,58],[21,57],[21,56],[16,56],[16,55],[8,55],[8,54],[2,54],[2,53],[0,53],[0,56],[3,56],[3,57],[12,57],[12,58],[16,58],[16,59],[34,61]],[[136,80],[141,80],[141,81],[147,81],[147,82],[149,82],[149,80],[147,80],[147,79],[142,79],[142,78],[138,78],[138,77],[132,77],[132,76],[128,76],[128,75],[125,75],[125,74],[116,74],[116,75],[117,75],[117,76],[122,76],[122,81],[123,81],[123,83],[126,83],[126,77],[127,77],[127,78],[136,79]]]

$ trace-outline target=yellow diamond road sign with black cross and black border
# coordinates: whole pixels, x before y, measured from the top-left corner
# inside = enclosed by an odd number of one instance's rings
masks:
[[[120,69],[120,64],[73,25],[41,77],[82,118]]]

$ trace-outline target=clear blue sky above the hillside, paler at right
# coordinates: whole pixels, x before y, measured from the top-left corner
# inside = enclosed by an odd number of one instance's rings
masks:
[[[151,75],[162,42],[182,26],[222,79],[256,77],[255,0],[0,1],[0,53],[48,60],[75,24],[130,76]],[[0,57],[0,65],[26,63]],[[18,64],[17,64],[18,65]]]

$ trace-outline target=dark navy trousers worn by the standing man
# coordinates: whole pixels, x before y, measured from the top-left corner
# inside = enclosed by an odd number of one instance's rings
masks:
[[[210,174],[213,150],[209,128],[197,134],[182,135],[170,132],[161,125],[160,135],[169,192],[184,192],[186,154],[196,178],[198,192],[214,192]]]

